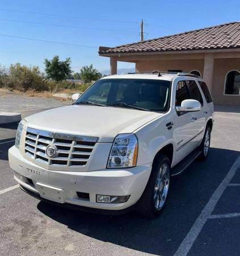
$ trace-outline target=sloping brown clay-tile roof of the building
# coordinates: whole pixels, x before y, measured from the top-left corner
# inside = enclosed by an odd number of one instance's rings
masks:
[[[142,42],[124,44],[122,46],[103,47],[102,50],[99,48],[99,54],[229,48],[240,48],[240,22],[224,23]]]

